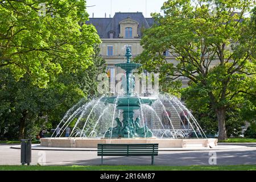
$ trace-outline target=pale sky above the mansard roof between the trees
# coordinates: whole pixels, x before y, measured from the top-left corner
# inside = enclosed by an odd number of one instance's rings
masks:
[[[146,18],[150,18],[150,13],[160,13],[163,3],[167,0],[86,0],[87,12],[92,18],[109,18],[114,16],[116,12],[142,12]],[[112,5],[112,6],[111,6]]]

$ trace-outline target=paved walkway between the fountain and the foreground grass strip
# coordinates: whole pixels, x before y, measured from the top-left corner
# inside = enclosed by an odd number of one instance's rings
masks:
[[[219,144],[221,146],[222,144]],[[223,144],[228,145],[228,144]],[[237,143],[236,143],[237,145]],[[256,143],[238,144],[242,148],[231,148],[212,151],[160,151],[155,157],[156,165],[188,166],[209,165],[212,152],[216,152],[217,165],[256,164]],[[13,145],[0,144],[0,165],[19,165],[20,150],[10,148]],[[211,153],[209,153],[211,152]],[[44,162],[45,159],[45,163]],[[42,151],[32,150],[32,165],[100,165],[101,159],[96,151]],[[148,165],[151,158],[105,157],[104,163],[109,165]]]

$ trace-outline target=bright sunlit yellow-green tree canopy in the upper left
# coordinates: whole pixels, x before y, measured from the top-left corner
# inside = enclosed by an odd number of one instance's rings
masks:
[[[100,43],[88,20],[85,1],[0,1],[0,67],[16,80],[26,75],[46,88],[50,78],[67,67],[72,72],[93,63],[93,46]]]

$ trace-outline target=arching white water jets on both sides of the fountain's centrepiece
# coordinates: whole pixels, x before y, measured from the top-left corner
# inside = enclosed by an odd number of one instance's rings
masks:
[[[71,127],[71,123],[75,122],[75,126],[72,127],[71,137],[79,136],[81,138],[86,137],[86,135],[88,137],[105,137],[106,132],[109,131],[109,137],[111,139],[113,136],[115,117],[120,118],[120,122],[122,122],[121,118],[123,117],[122,111],[117,111],[118,97],[115,98],[113,104],[108,105],[105,105],[104,102],[101,101],[101,98],[94,99],[86,104],[83,103],[84,100],[79,101],[69,109],[67,113],[65,113],[63,119],[61,119],[61,122],[58,125],[61,129],[60,136],[63,135],[68,126]],[[185,107],[176,97],[159,94],[151,106],[143,104],[142,97],[139,97],[138,95],[137,97],[141,108],[134,111],[134,118],[141,118],[141,125],[143,125],[145,135],[147,126],[156,137],[160,138],[172,137],[177,139],[178,136],[187,138],[190,129],[195,133],[196,138],[199,138],[196,130],[199,131],[202,137],[205,137],[204,131],[201,129],[195,117],[193,117],[187,107]],[[166,105],[166,103],[168,103],[168,105]],[[172,118],[167,112],[167,108],[169,108],[167,106],[172,108]],[[188,122],[190,129],[186,128],[187,124],[186,126],[184,125],[184,121],[182,121],[179,114],[180,111],[184,114],[184,119]],[[166,119],[169,121],[168,124],[164,123],[159,117],[161,112],[166,114]],[[149,119],[148,121],[151,121],[151,125],[146,125],[146,117]],[[174,123],[176,123],[175,127]],[[179,123],[180,129],[176,128],[177,123]],[[130,133],[127,137],[130,138]]]

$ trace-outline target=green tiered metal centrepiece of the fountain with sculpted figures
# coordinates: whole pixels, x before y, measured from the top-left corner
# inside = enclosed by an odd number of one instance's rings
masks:
[[[140,118],[134,118],[134,110],[141,109],[141,104],[151,105],[155,101],[154,98],[134,96],[134,78],[131,74],[134,69],[142,66],[142,64],[131,63],[131,51],[126,48],[125,57],[126,63],[115,64],[116,67],[121,67],[126,72],[126,88],[124,96],[104,97],[101,101],[110,104],[116,104],[118,110],[123,110],[123,121],[115,118],[116,127],[110,127],[106,131],[104,138],[149,138],[152,137],[152,132],[147,126],[140,126]]]

